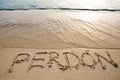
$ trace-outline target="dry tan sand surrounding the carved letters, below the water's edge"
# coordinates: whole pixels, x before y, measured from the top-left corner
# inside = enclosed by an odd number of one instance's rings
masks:
[[[45,61],[34,61],[32,65],[43,65],[44,68],[34,67],[30,70],[30,64],[35,54],[38,52],[56,52],[59,54],[57,61],[66,65],[64,52],[71,52],[78,55],[80,59],[81,55],[89,50],[89,54],[97,61],[95,52],[103,56],[110,61],[106,51],[109,52],[112,60],[118,65],[113,66],[103,58],[100,58],[103,65],[106,66],[106,70],[102,69],[101,64],[98,62],[95,69],[88,66],[79,65],[78,69],[71,68],[67,70],[61,70],[56,62],[53,62],[52,67],[48,67],[49,55],[37,55],[36,58],[44,58]],[[9,72],[14,58],[21,53],[30,55],[29,61],[16,63],[13,66],[13,72]],[[0,48],[0,80],[119,80],[120,79],[120,50],[111,49],[86,49],[86,48],[74,48],[74,49],[22,49],[22,48]],[[54,56],[54,55],[53,55]],[[25,55],[17,57],[17,60],[27,58]],[[78,63],[78,60],[73,55],[68,55],[70,65],[74,66]],[[86,59],[85,59],[86,58]],[[91,65],[93,58],[85,56],[84,61],[86,64]]]

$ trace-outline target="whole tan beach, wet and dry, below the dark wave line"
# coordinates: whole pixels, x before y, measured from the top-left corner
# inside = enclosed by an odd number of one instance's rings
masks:
[[[119,65],[119,11],[0,11],[0,80],[120,80]]]

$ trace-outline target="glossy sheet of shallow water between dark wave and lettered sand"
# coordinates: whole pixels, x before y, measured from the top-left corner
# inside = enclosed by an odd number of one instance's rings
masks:
[[[29,48],[120,48],[120,12],[0,11],[0,45]]]

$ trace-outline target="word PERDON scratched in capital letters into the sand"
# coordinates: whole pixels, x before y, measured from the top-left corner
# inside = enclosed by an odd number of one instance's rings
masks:
[[[114,62],[109,52],[106,51],[105,53],[107,58],[98,54],[97,52],[94,52],[95,57],[93,57],[93,55],[90,54],[89,50],[85,50],[81,56],[78,56],[72,52],[63,52],[61,54],[62,55],[62,58],[61,58],[60,54],[57,52],[37,52],[34,54],[34,57],[32,58],[32,60],[30,60],[30,54],[20,53],[13,59],[13,63],[11,64],[8,71],[9,73],[12,73],[14,70],[14,66],[16,64],[20,64],[23,62],[30,62],[28,71],[37,67],[40,67],[42,69],[45,68],[45,65],[40,63],[36,65],[35,64],[36,62],[45,63],[47,64],[46,67],[48,68],[52,68],[53,64],[56,64],[58,68],[62,71],[72,69],[72,68],[79,69],[80,65],[84,67],[85,66],[89,67],[91,69],[95,69],[97,64],[100,64],[101,68],[103,70],[106,70],[106,65],[104,65],[105,63],[103,63],[103,61],[107,62],[108,64],[112,65],[115,68],[118,68],[118,64]],[[47,56],[48,58],[46,58],[45,56]],[[74,58],[75,60],[71,60],[72,58]],[[90,61],[89,63],[86,61],[88,58],[89,58],[88,61]],[[48,61],[46,61],[46,59],[48,59]],[[65,61],[66,64],[63,64],[60,61],[61,59],[62,61]],[[71,63],[74,63],[74,65],[72,65]]]

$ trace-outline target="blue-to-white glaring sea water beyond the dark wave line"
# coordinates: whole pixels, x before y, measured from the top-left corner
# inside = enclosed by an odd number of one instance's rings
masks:
[[[120,9],[120,0],[0,0],[0,9]]]

